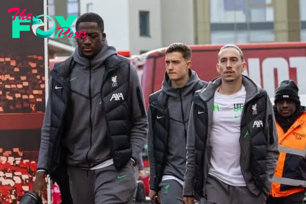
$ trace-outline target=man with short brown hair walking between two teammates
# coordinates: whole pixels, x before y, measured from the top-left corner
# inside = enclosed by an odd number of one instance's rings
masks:
[[[191,69],[191,49],[173,43],[165,53],[162,89],[149,96],[149,197],[162,204],[184,203],[186,138],[192,96],[207,83]],[[159,196],[160,195],[160,196]]]

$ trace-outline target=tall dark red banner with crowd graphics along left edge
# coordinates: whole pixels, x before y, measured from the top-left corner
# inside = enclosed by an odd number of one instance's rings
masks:
[[[32,30],[12,38],[10,8],[43,14],[43,2],[2,1],[0,19],[0,203],[17,203],[35,179],[45,110],[44,39]],[[31,22],[29,28],[31,28]]]

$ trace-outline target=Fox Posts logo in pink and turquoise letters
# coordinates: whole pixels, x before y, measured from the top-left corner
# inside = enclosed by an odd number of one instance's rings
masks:
[[[12,38],[20,38],[20,31],[30,31],[30,25],[24,24],[29,23],[32,20],[31,29],[33,33],[40,38],[48,38],[53,35],[55,32],[55,21],[52,17],[48,15],[39,15],[39,16],[33,16],[32,13],[29,13],[27,16],[25,16],[24,12],[27,9],[24,9],[20,12],[19,8],[11,8],[8,10],[8,13],[11,13],[13,11],[16,11],[15,15],[12,19]],[[43,22],[40,17],[47,17],[53,22],[53,27],[48,31],[42,31],[39,29],[39,27],[43,27],[46,22]],[[63,16],[55,16],[56,20],[60,24],[61,28],[58,28],[58,33],[56,34],[55,38],[62,38],[64,35],[68,35],[68,38],[85,38],[87,36],[86,32],[81,31],[79,34],[78,32],[73,33],[71,29],[71,25],[74,22],[74,20],[77,18],[77,16],[69,16],[67,20],[64,19]],[[21,24],[22,23],[22,24]]]

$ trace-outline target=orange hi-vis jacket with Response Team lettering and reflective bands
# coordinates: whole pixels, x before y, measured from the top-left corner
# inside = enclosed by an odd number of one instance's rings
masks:
[[[306,188],[306,112],[285,133],[276,122],[279,158],[270,194],[285,197]]]

